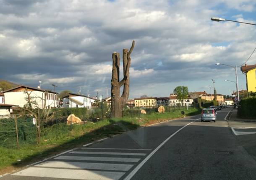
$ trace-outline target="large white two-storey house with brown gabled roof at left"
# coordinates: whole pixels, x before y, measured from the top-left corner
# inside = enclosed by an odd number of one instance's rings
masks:
[[[28,103],[28,94],[26,94],[25,91],[30,94],[31,101],[34,101],[32,108],[38,107],[43,109],[45,106],[47,109],[52,109],[56,107],[56,92],[24,85],[3,91],[5,104],[14,104],[24,107],[24,105]]]

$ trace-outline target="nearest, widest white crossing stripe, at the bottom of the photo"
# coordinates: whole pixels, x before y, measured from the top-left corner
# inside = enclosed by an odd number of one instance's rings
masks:
[[[79,180],[118,180],[125,172],[107,172],[107,171],[89,171],[89,170],[68,170],[55,168],[29,167],[16,176],[33,176],[33,177],[53,177],[63,179]]]

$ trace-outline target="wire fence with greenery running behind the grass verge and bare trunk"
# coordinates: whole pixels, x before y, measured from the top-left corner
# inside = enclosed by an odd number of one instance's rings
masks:
[[[186,107],[164,106],[165,112],[183,111]],[[191,108],[189,106],[188,108]],[[157,106],[151,107],[120,107],[122,117],[137,118],[143,116],[141,110],[146,114],[157,113]],[[86,122],[98,122],[110,118],[110,106],[100,104],[97,108],[62,108],[52,109],[52,118],[45,121],[38,112],[37,119],[32,114],[12,114],[0,116],[0,147],[18,148],[29,145],[37,145],[44,141],[56,141],[68,137],[76,126],[73,122],[75,117],[71,116],[71,123],[67,123],[68,116],[74,114],[81,119],[78,124],[84,127]],[[42,114],[41,114],[42,115]],[[72,119],[73,118],[73,119]],[[82,128],[83,126],[81,126]],[[78,127],[76,127],[78,128]]]

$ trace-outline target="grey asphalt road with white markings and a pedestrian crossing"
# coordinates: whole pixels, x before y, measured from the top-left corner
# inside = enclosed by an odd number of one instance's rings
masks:
[[[232,132],[227,113],[219,111],[215,123],[201,122],[199,114],[142,127],[0,180],[254,180],[256,161]]]

